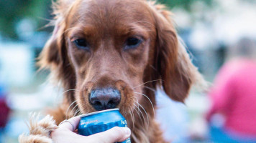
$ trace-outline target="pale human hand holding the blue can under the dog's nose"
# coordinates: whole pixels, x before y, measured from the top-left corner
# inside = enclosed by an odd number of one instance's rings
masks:
[[[55,143],[113,143],[123,142],[131,135],[131,130],[127,127],[114,127],[91,136],[81,136],[73,132],[73,128],[78,127],[79,121],[80,117],[73,117],[68,119],[68,122],[60,124],[58,129],[51,133],[52,141]]]

